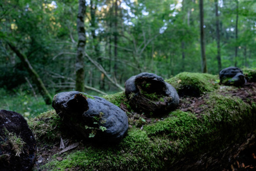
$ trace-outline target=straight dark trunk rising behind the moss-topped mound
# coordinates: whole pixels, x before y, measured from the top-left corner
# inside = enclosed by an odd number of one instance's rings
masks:
[[[200,39],[201,39],[201,69],[202,73],[207,73],[207,62],[205,56],[205,41],[204,41],[204,7],[203,0],[199,1],[199,9],[200,9]]]

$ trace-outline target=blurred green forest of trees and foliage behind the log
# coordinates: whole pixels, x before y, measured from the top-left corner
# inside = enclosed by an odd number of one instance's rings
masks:
[[[255,68],[255,1],[79,3],[0,2],[3,109],[35,116],[51,109],[44,99],[49,104],[58,92],[111,94],[141,72],[170,78],[184,71],[217,75],[230,66]]]

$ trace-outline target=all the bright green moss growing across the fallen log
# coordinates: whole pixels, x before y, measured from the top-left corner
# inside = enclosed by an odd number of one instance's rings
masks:
[[[217,76],[209,74],[181,73],[167,82],[178,91],[191,84],[203,93],[216,90],[219,87],[215,83],[217,79]],[[249,105],[238,97],[217,93],[214,91],[207,95],[209,98],[200,106],[203,111],[200,115],[176,110],[165,119],[147,125],[140,118],[139,124],[143,129],[130,127],[119,144],[80,144],[79,147],[83,147],[79,150],[62,154],[62,161],[58,161],[58,155],[55,155],[42,169],[168,170],[187,154],[197,159],[201,154],[221,152],[233,142],[241,142],[245,135],[256,129],[256,104]],[[127,102],[124,92],[103,97],[117,106]],[[55,121],[49,122],[50,118]],[[35,122],[29,124],[33,132],[41,135],[37,136],[41,141],[46,141],[45,137],[50,135],[57,137],[60,134],[58,129],[54,129],[60,122],[54,111],[39,115]]]

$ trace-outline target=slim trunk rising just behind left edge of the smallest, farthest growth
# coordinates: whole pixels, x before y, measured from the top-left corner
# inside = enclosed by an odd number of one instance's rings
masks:
[[[218,70],[221,71],[221,46],[220,46],[220,24],[219,24],[219,14],[218,14],[218,0],[215,0],[215,15],[216,15],[216,40],[217,40],[217,61]]]

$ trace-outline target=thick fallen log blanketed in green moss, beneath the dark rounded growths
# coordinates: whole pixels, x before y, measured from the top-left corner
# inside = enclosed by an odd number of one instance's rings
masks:
[[[169,83],[173,82],[173,86],[178,88],[180,93],[184,88],[182,85],[200,89],[195,89],[199,92],[199,95],[196,95],[202,100],[200,112],[178,109],[163,118],[148,118],[152,122],[144,122],[140,119],[143,126],[139,127],[130,122],[128,134],[119,144],[101,146],[81,142],[73,151],[56,154],[44,165],[37,167],[42,170],[222,170],[227,168],[244,148],[255,142],[256,100],[232,96],[230,91],[237,91],[240,88],[220,89],[216,83],[217,79],[217,76],[209,74],[181,73],[169,80]],[[194,85],[193,81],[197,85]],[[251,97],[253,96],[255,97],[255,91],[251,94]],[[133,111],[127,103],[124,92],[103,98],[125,110],[127,116],[132,118]],[[186,98],[181,99],[183,102],[186,100]],[[142,114],[140,116],[143,117]],[[42,144],[51,146],[50,144],[60,141],[60,136],[71,139],[69,134],[62,132],[61,120],[54,111],[30,120],[29,125],[37,141]],[[72,141],[81,140],[72,139]]]

